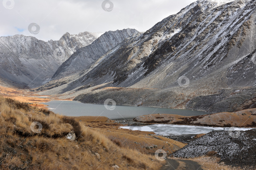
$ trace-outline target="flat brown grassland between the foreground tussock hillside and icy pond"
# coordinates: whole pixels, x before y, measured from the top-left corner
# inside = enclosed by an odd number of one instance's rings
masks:
[[[105,137],[121,147],[128,147],[138,150],[141,153],[152,154],[158,149],[164,150],[170,154],[186,144],[162,136],[155,136],[154,132],[132,131],[122,129],[118,123],[104,116],[78,116],[72,117],[86,127],[92,127],[94,130],[104,134]],[[153,135],[153,136],[152,136]],[[148,150],[147,146],[156,146]]]

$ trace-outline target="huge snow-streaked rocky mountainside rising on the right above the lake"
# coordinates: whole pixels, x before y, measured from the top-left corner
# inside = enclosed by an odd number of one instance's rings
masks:
[[[255,10],[255,0],[196,1],[43,93],[209,112],[253,108]]]

